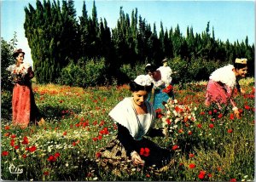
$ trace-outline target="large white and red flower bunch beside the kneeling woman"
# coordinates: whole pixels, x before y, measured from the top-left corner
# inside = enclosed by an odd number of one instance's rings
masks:
[[[167,134],[172,134],[172,138],[181,134],[191,135],[196,121],[194,111],[196,107],[192,108],[192,105],[178,105],[177,100],[169,99],[161,117]]]

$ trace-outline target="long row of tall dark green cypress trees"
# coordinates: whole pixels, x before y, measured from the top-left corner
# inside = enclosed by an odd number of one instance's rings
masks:
[[[39,83],[68,83],[63,80],[69,79],[73,84],[72,77],[94,76],[94,65],[98,66],[95,77],[99,78],[95,83],[125,82],[133,76],[132,71],[143,71],[147,63],[160,65],[164,58],[168,59],[172,69],[180,70],[177,82],[188,81],[192,74],[195,80],[207,79],[210,71],[219,65],[232,63],[236,57],[247,58],[249,72],[254,73],[254,44],[249,45],[247,37],[241,43],[216,39],[214,28],[210,30],[210,22],[201,33],[195,33],[193,27],[188,26],[185,36],[178,25],[167,30],[160,22],[158,33],[155,23],[151,27],[138,15],[137,9],[129,15],[120,7],[117,25],[110,29],[105,18],[98,19],[95,2],[91,16],[84,2],[82,15],[77,19],[73,0],[62,0],[61,3],[59,0],[37,0],[36,7],[30,3],[25,7],[25,13],[25,34]],[[208,65],[211,65],[210,69]],[[92,70],[83,75],[88,66]],[[181,69],[188,74],[183,74]],[[83,84],[88,82],[84,80]]]

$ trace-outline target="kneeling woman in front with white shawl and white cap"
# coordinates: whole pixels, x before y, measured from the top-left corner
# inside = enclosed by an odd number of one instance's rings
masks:
[[[155,112],[147,101],[153,88],[152,79],[138,76],[130,83],[132,97],[125,98],[116,105],[109,116],[118,127],[118,134],[110,144],[101,150],[102,157],[128,160],[135,165],[166,166],[171,161],[171,151],[160,148],[153,141],[144,138],[164,136],[163,130],[154,127]]]

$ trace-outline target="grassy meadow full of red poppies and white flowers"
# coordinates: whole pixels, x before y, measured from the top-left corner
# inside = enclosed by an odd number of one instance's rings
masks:
[[[236,94],[241,118],[230,108],[206,108],[206,82],[174,87],[175,101],[158,112],[157,126],[166,128],[162,147],[174,152],[165,171],[118,163],[98,165],[99,149],[116,134],[108,112],[131,93],[126,85],[72,88],[33,84],[44,126],[11,125],[11,93],[2,91],[1,179],[8,180],[165,180],[252,181],[254,179],[254,80],[241,82]]]

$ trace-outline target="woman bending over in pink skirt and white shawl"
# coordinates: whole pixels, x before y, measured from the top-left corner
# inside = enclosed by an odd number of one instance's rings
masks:
[[[232,100],[232,94],[235,87],[240,88],[238,80],[246,77],[246,74],[247,59],[236,59],[234,65],[225,65],[213,71],[207,85],[205,105],[215,103],[218,109],[222,109],[222,105],[230,104],[236,117],[239,117],[240,113]]]

